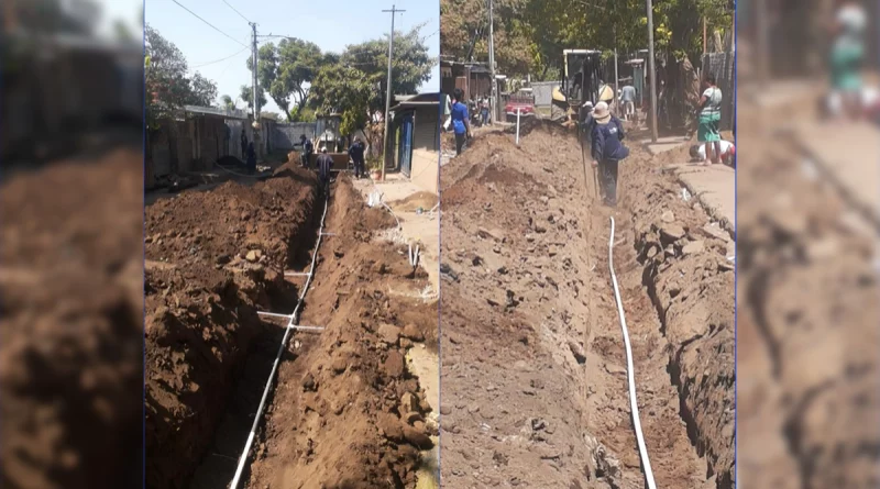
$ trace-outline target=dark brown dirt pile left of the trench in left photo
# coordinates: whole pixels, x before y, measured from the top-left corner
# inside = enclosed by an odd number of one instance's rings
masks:
[[[316,197],[314,175],[292,169],[146,209],[147,487],[185,487],[210,445],[266,332],[256,310],[295,296],[283,271],[312,238]]]

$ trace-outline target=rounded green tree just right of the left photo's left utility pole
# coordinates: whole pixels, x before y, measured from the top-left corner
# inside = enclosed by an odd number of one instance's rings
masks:
[[[284,110],[288,121],[306,107],[308,85],[324,63],[321,49],[315,43],[298,38],[284,38],[277,46],[263,45],[257,52],[257,79],[268,87],[272,100]],[[248,59],[250,69],[253,62]]]

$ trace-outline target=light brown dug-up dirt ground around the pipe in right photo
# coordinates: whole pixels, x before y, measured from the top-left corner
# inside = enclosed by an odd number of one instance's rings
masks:
[[[635,354],[659,487],[734,484],[733,265],[723,232],[640,147],[622,205],[597,205],[576,142],[477,137],[441,188],[442,482],[640,488],[626,362]],[[592,184],[592,175],[587,177]]]

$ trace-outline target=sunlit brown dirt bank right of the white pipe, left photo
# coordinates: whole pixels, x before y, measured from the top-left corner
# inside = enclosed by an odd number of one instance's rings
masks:
[[[295,334],[288,345],[249,487],[414,487],[436,407],[405,354],[421,342],[437,347],[437,303],[392,296],[428,282],[403,248],[371,241],[394,225],[389,214],[366,209],[348,177],[334,184],[330,205],[327,230],[337,234],[321,245],[301,320],[326,331]]]

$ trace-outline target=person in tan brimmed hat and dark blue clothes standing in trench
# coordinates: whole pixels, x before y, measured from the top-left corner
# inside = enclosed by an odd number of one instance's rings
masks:
[[[598,168],[602,197],[606,205],[617,205],[617,167],[629,156],[624,146],[624,124],[612,115],[606,102],[596,103],[593,110],[593,132],[591,134],[593,167]]]

